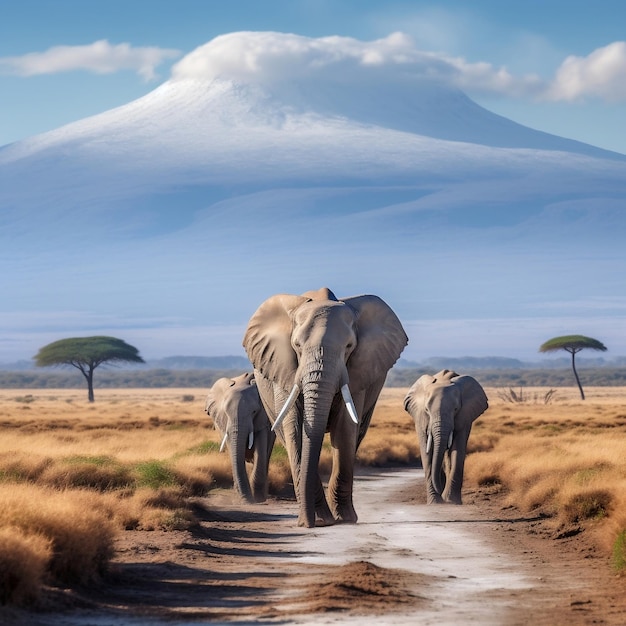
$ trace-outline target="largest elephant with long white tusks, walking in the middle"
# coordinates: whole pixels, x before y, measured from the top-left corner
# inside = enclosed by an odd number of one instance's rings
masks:
[[[277,294],[250,318],[243,346],[272,428],[284,442],[299,506],[298,526],[356,523],[357,449],[387,372],[408,338],[378,296],[337,299],[323,287]],[[319,458],[330,432],[328,499]]]

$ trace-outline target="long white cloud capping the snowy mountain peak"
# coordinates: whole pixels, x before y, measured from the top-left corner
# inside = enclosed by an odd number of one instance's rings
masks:
[[[174,66],[172,78],[263,83],[313,78],[398,84],[426,79],[509,95],[535,94],[543,89],[537,76],[517,77],[489,63],[469,63],[461,57],[418,50],[411,37],[399,32],[369,42],[275,32],[230,33],[185,56]]]

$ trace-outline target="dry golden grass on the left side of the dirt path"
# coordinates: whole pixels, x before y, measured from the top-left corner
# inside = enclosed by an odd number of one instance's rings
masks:
[[[122,529],[180,529],[191,496],[232,485],[206,390],[0,391],[0,603],[93,580]],[[277,451],[270,476],[290,480]],[[19,560],[20,566],[14,566]],[[6,567],[5,567],[6,566]]]

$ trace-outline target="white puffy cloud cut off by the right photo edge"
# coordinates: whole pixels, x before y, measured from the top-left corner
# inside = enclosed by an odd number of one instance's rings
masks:
[[[616,41],[586,57],[567,57],[546,96],[550,100],[568,101],[587,96],[626,100],[626,42]]]

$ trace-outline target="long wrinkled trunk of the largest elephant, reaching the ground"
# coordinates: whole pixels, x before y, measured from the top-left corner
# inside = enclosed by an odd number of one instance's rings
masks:
[[[323,493],[318,493],[319,459],[330,409],[341,385],[347,382],[347,373],[337,367],[337,362],[343,364],[320,349],[316,358],[307,361],[301,378],[304,418],[299,499],[303,522],[309,528],[315,526],[315,509],[324,499]]]

